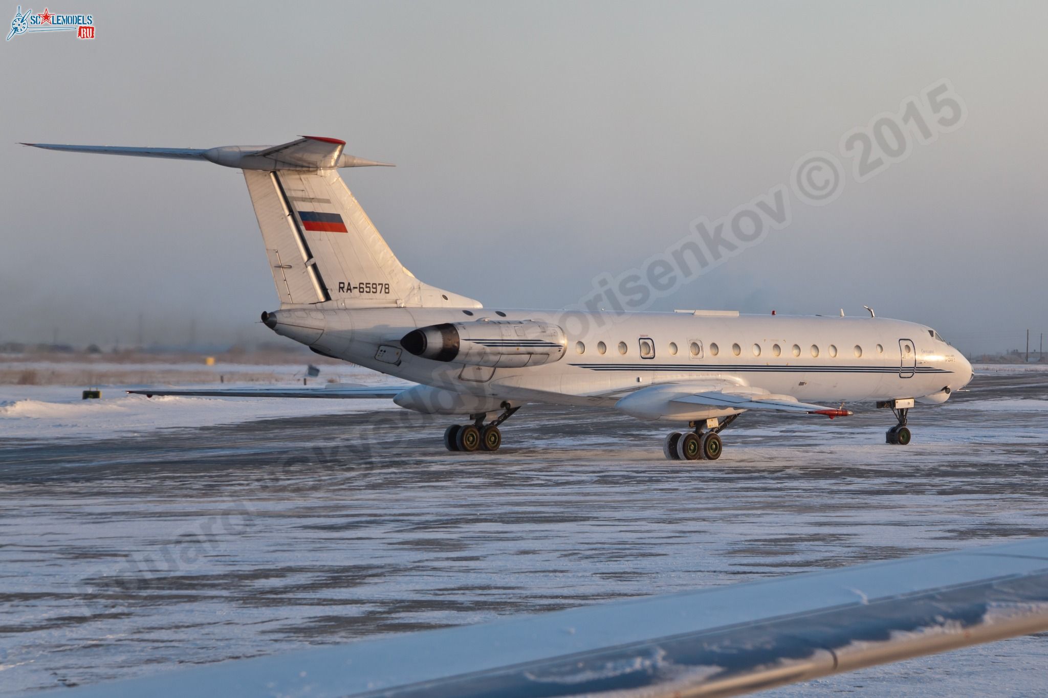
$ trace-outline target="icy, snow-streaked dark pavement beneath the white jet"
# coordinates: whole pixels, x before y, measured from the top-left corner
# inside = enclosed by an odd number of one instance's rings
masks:
[[[597,411],[521,410],[497,454],[330,401],[89,441],[39,418],[0,442],[0,694],[1048,535],[1048,375],[971,387],[905,448],[883,410],[746,414],[697,464]],[[1043,695],[1046,669],[1031,636],[768,695]]]

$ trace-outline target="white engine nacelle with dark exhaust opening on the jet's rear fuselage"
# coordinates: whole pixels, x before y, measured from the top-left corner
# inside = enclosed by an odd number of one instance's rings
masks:
[[[568,336],[549,322],[475,320],[412,330],[400,345],[434,361],[521,368],[560,361],[567,351]]]

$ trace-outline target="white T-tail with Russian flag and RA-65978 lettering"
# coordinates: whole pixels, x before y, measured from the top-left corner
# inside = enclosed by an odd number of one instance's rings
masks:
[[[345,154],[343,140],[305,136],[283,145],[210,150],[23,144],[239,167],[247,181],[281,307],[480,308],[473,298],[423,284],[400,264],[336,172],[391,165]]]

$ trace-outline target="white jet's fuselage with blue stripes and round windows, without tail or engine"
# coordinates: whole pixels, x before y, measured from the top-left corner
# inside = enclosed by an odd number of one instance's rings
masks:
[[[973,376],[961,353],[930,328],[874,317],[318,306],[278,313],[279,334],[322,354],[481,399],[429,411],[488,411],[503,401],[612,407],[638,388],[714,380],[801,401],[939,403]],[[484,319],[556,324],[567,336],[566,351],[544,365],[493,368],[399,350],[400,339],[417,328]],[[642,343],[651,350],[643,356]],[[702,408],[659,419],[691,421],[733,411],[738,410]]]

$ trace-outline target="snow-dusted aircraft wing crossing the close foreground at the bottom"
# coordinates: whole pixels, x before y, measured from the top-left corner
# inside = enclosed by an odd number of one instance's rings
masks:
[[[1048,630],[1048,538],[225,661],[56,696],[728,696]]]

